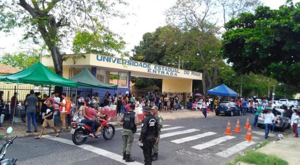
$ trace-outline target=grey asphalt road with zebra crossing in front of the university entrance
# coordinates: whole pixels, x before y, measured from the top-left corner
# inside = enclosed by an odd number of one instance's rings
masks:
[[[165,125],[160,136],[158,160],[153,165],[223,165],[231,161],[240,151],[252,148],[264,141],[264,130],[252,128],[253,142],[243,139],[246,117],[252,122],[253,116],[215,116],[192,119],[163,121]],[[242,133],[232,132],[224,135],[227,121],[234,130],[236,120],[240,119]],[[35,140],[33,137],[19,138],[8,148],[5,158],[16,157],[18,165],[141,165],[142,150],[136,145],[135,135],[132,146],[134,163],[122,161],[121,135],[118,129],[110,141],[87,139],[84,145],[74,146],[69,133],[60,134],[59,138],[45,136]],[[286,130],[288,131],[288,130]],[[136,133],[139,133],[137,131]],[[269,140],[274,140],[281,132],[271,133]],[[3,141],[1,142],[3,143]]]

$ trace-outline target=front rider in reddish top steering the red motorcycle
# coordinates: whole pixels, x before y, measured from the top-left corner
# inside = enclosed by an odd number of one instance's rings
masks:
[[[101,114],[98,114],[95,110],[94,110],[94,107],[95,105],[97,104],[97,102],[92,99],[90,100],[88,103],[87,103],[87,108],[85,109],[85,114],[88,118],[91,118],[92,120],[95,120],[95,117],[105,117],[106,115],[101,115]],[[102,129],[102,126],[101,126],[101,123],[99,124],[98,121],[95,121],[95,125],[99,125],[99,127],[97,128],[96,132],[95,132],[95,138],[99,138],[98,134],[99,132],[101,131]],[[95,126],[96,128],[96,126]]]

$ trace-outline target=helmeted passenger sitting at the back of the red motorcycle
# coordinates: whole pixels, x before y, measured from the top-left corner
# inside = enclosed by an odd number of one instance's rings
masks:
[[[77,104],[78,104],[77,116],[80,120],[80,123],[91,125],[91,130],[90,130],[89,136],[94,138],[93,134],[94,134],[94,130],[95,130],[95,121],[92,120],[92,118],[88,117],[85,113],[86,106],[84,106],[84,98],[83,97],[78,98]]]

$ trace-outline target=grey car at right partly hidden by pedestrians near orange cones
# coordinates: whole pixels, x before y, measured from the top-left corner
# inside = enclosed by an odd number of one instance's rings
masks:
[[[264,112],[268,111],[269,109],[272,110],[272,108],[265,108]],[[275,111],[272,111],[274,114],[276,120],[275,128],[279,128],[282,132],[285,130],[285,128],[290,128],[290,119],[285,116],[284,110],[275,108]],[[258,116],[257,120],[257,127],[264,126],[264,119],[262,119],[262,113]]]

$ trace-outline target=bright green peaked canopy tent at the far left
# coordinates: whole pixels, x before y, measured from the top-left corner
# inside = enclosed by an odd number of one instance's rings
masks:
[[[68,79],[65,79],[57,74],[53,73],[47,69],[40,62],[26,68],[20,72],[14,74],[8,74],[0,76],[0,81],[16,83],[18,92],[18,84],[33,84],[33,85],[53,85],[53,86],[63,86],[63,87],[73,87],[77,88],[77,83]],[[15,99],[16,101],[16,99]],[[16,103],[14,103],[13,118]],[[11,126],[13,124],[13,120]]]

